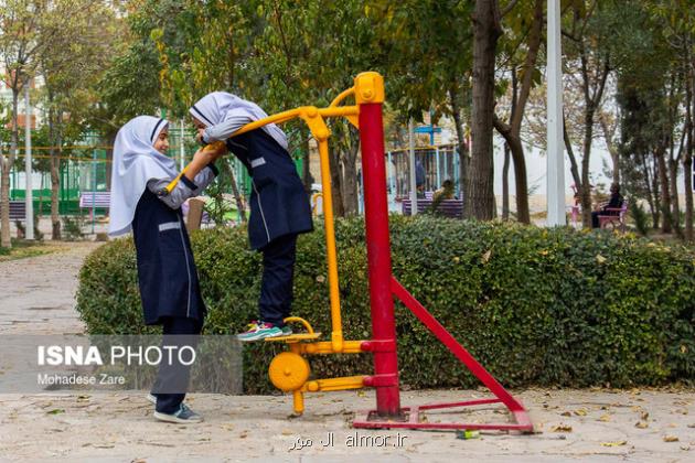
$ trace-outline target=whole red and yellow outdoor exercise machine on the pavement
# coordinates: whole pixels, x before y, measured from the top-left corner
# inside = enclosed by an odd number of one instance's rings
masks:
[[[339,106],[346,97],[354,96],[354,106]],[[373,387],[376,389],[376,409],[354,420],[355,428],[410,428],[410,429],[485,429],[531,432],[533,424],[522,403],[510,395],[482,365],[420,304],[392,273],[388,211],[386,195],[386,168],[384,154],[384,80],[374,72],[354,78],[354,86],[341,93],[328,108],[304,106],[252,122],[234,136],[257,129],[267,123],[286,122],[301,118],[307,122],[319,144],[323,215],[328,260],[328,282],[331,310],[331,341],[318,341],[321,333],[300,317],[291,316],[287,323],[300,323],[306,333],[267,338],[266,342],[286,343],[289,351],[278,354],[270,363],[269,377],[285,392],[292,392],[295,412],[304,410],[304,392],[332,391]],[[360,130],[362,172],[364,177],[365,227],[372,314],[372,338],[348,341],[343,338],[338,260],[333,232],[333,204],[329,171],[327,117],[345,117]],[[234,137],[233,136],[233,137]],[[175,185],[172,182],[171,187]],[[399,397],[398,359],[394,295],[419,319],[453,355],[463,363],[494,395],[494,397],[447,403],[402,407]],[[370,353],[374,356],[374,374],[342,378],[310,379],[308,356],[330,354]],[[466,423],[428,422],[423,412],[447,408],[503,403],[514,422]]]

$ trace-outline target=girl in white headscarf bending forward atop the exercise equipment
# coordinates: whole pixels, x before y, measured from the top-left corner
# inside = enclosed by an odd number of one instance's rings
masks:
[[[292,303],[297,236],[311,232],[309,195],[287,151],[287,137],[275,123],[235,136],[245,125],[264,119],[255,103],[224,91],[214,91],[191,109],[199,139],[226,142],[227,149],[246,166],[252,177],[248,238],[263,252],[259,320],[240,333],[240,341],[288,336],[285,325]]]

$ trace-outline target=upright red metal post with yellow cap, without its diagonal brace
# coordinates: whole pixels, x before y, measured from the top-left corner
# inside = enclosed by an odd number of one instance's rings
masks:
[[[382,120],[383,77],[377,73],[362,73],[355,77],[355,100],[360,105],[372,340],[381,346],[374,351],[374,373],[375,377],[384,379],[384,386],[376,386],[376,411],[381,418],[398,418],[402,410],[396,322],[391,291],[391,240]]]

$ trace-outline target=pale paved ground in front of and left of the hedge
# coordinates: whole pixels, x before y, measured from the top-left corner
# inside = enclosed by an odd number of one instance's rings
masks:
[[[79,333],[76,277],[96,244],[0,262],[0,335]],[[1,353],[0,353],[1,355]],[[404,405],[463,400],[483,392],[406,391]],[[374,406],[371,390],[310,395],[291,419],[284,396],[192,395],[206,421],[171,426],[152,419],[140,392],[0,394],[0,461],[695,461],[695,395],[674,390],[525,390],[538,433],[364,431],[350,423]],[[429,416],[429,421],[504,420],[503,410]],[[328,443],[332,435],[332,445]],[[387,439],[388,438],[388,439]],[[301,449],[298,449],[301,448]]]

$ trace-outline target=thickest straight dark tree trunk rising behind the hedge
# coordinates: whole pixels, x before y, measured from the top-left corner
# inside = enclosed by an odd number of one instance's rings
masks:
[[[472,150],[466,208],[469,217],[481,220],[491,219],[494,208],[494,64],[501,34],[496,0],[477,0],[473,13]]]

